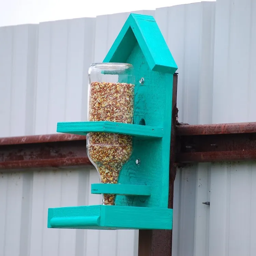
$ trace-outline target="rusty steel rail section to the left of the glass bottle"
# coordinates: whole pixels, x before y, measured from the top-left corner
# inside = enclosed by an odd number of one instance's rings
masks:
[[[0,138],[0,169],[91,165],[86,136],[49,134]]]

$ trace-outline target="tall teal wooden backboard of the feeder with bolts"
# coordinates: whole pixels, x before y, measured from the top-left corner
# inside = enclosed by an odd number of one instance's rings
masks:
[[[136,72],[134,124],[141,119],[148,126],[163,127],[161,140],[133,137],[133,153],[120,171],[118,183],[150,185],[151,196],[141,200],[117,195],[115,203],[124,206],[167,208],[169,193],[169,159],[173,75],[151,71],[139,44],[127,59]],[[144,84],[139,80],[144,77]],[[140,159],[140,165],[136,165]]]

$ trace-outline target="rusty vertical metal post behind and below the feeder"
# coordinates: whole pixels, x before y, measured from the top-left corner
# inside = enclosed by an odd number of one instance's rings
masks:
[[[170,150],[170,176],[168,208],[173,208],[173,183],[175,166],[175,129],[177,122],[177,74],[173,76],[172,91],[172,129]],[[172,230],[139,230],[139,256],[171,256]]]

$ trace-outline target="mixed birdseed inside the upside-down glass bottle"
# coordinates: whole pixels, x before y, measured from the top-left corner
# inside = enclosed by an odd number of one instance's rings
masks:
[[[92,82],[89,96],[89,121],[132,124],[134,85]],[[132,137],[124,134],[88,134],[87,150],[102,183],[116,184],[120,170],[132,153]],[[114,205],[115,195],[103,194],[103,204]]]

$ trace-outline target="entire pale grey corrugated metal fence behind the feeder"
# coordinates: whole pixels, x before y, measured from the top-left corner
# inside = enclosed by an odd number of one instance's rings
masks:
[[[138,13],[154,15],[179,66],[180,122],[255,121],[255,1]],[[128,15],[0,28],[0,137],[86,120],[88,66],[102,61]],[[201,163],[177,171],[173,256],[256,254],[255,169]],[[137,231],[47,229],[47,208],[99,203],[90,194],[96,182],[93,168],[1,174],[0,255],[136,256]]]

